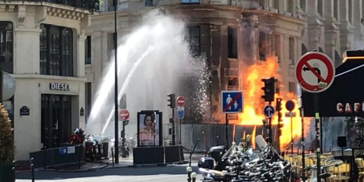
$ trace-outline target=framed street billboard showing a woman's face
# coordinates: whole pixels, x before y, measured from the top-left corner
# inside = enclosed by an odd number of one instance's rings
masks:
[[[138,113],[138,147],[162,146],[162,113],[143,111]]]

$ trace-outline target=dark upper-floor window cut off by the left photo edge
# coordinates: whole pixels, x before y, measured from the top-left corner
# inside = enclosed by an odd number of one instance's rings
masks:
[[[13,23],[0,21],[0,62],[2,71],[13,73]]]

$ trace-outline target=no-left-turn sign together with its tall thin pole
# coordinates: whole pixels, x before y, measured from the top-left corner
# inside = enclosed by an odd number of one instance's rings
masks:
[[[307,52],[306,54],[302,55],[296,66],[296,78],[298,84],[303,90],[314,93],[317,182],[321,181],[321,149],[319,140],[320,131],[318,128],[320,114],[317,93],[323,92],[331,86],[334,80],[334,75],[335,69],[332,65],[330,57],[317,51]]]

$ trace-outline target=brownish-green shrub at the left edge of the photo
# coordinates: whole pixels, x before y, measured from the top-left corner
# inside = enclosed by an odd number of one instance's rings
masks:
[[[12,163],[14,160],[14,148],[11,120],[4,106],[0,104],[0,161]]]

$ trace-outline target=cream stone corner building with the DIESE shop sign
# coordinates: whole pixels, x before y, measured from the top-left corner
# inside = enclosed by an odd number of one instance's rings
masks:
[[[70,0],[0,0],[1,68],[15,79],[15,94],[3,103],[16,160],[58,147],[85,126],[85,29],[98,10]]]

